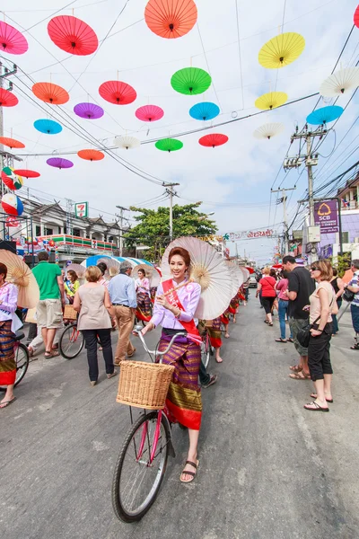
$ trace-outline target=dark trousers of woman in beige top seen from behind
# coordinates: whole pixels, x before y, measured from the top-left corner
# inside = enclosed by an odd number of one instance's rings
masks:
[[[111,346],[111,330],[83,330],[86,342],[87,361],[89,363],[89,376],[91,382],[97,382],[99,377],[99,364],[97,362],[97,336],[99,336],[103,358],[106,365],[106,374],[111,375],[114,371]]]

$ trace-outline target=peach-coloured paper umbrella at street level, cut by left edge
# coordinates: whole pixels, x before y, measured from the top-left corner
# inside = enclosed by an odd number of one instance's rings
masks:
[[[30,268],[13,252],[0,250],[0,261],[7,268],[6,281],[19,288],[17,305],[36,307],[39,303],[39,286]]]

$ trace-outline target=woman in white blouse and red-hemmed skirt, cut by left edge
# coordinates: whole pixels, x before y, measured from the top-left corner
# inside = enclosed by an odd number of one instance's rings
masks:
[[[18,289],[5,282],[7,267],[0,263],[0,385],[6,385],[4,399],[0,409],[6,408],[16,400],[13,385],[16,380],[16,360],[13,347],[15,344],[16,308]]]

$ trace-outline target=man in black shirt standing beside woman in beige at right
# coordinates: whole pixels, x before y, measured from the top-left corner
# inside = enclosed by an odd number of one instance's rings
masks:
[[[292,330],[295,349],[300,355],[299,364],[290,367],[293,370],[291,378],[302,380],[310,378],[308,368],[308,349],[305,349],[297,339],[298,331],[308,324],[309,310],[303,307],[309,305],[309,296],[315,290],[315,282],[311,278],[310,272],[297,264],[293,256],[285,256],[283,267],[288,274],[288,318]]]

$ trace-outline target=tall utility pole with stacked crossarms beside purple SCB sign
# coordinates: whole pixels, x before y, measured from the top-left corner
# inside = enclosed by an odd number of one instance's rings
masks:
[[[326,137],[328,134],[328,131],[330,129],[327,128],[326,123],[323,123],[320,125],[319,128],[316,128],[314,130],[311,130],[308,127],[308,124],[305,124],[304,128],[302,128],[302,131],[298,131],[298,128],[296,128],[295,133],[291,137],[291,143],[294,140],[304,140],[306,143],[306,154],[302,155],[299,153],[298,155],[295,155],[294,157],[286,157],[285,163],[284,163],[284,169],[289,170],[291,168],[299,168],[302,163],[305,164],[307,168],[308,173],[308,201],[309,201],[309,225],[314,226],[314,199],[313,199],[313,173],[312,173],[312,167],[316,166],[318,164],[319,154],[312,152],[312,146],[315,139],[318,137],[320,140],[323,137]],[[312,242],[309,242],[312,243]],[[311,261],[316,261],[318,258],[317,254],[317,248],[314,245],[314,248],[311,252]]]

